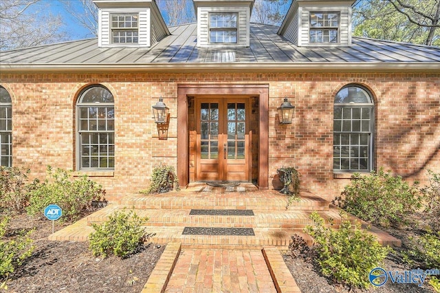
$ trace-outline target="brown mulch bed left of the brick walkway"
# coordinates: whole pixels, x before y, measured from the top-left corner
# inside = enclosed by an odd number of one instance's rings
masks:
[[[0,215],[0,217],[3,217]],[[62,226],[55,226],[60,230]],[[8,292],[140,292],[150,276],[164,246],[140,247],[126,259],[95,257],[86,242],[49,241],[52,222],[26,215],[12,217],[14,230],[32,229],[36,246],[32,257],[10,275]]]

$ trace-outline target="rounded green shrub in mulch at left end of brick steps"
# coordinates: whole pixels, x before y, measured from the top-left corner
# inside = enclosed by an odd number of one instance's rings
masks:
[[[107,257],[114,254],[126,257],[152,236],[147,235],[142,227],[145,221],[148,221],[148,218],[139,217],[133,211],[115,211],[103,224],[92,224],[96,232],[91,233],[89,237],[89,248],[94,255]]]

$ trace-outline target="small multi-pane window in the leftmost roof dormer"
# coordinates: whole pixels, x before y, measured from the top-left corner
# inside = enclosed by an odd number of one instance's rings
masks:
[[[111,40],[113,44],[137,44],[137,14],[111,14]]]

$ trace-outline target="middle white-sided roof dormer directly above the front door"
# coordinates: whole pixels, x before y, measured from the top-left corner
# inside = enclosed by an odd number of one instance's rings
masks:
[[[249,47],[254,0],[193,0],[198,47]]]

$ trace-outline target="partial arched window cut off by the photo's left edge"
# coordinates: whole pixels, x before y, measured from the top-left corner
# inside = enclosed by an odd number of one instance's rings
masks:
[[[12,100],[4,87],[0,87],[0,147],[1,166],[12,166]]]

